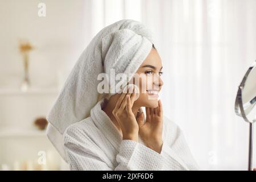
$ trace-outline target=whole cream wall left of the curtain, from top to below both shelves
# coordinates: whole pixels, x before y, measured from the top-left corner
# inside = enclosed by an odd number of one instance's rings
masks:
[[[46,3],[46,17],[38,16],[39,2]],[[63,163],[33,122],[46,117],[57,88],[92,38],[86,14],[90,14],[89,4],[80,0],[0,0],[0,169],[2,164],[13,169],[15,160],[21,166],[36,160],[39,151],[53,152],[56,161]],[[29,73],[31,87],[38,91],[18,90],[23,78],[19,39],[36,47],[30,53]]]

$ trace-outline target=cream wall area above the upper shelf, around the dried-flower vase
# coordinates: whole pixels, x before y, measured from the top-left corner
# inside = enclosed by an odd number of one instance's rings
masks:
[[[46,3],[46,17],[38,16],[39,2]],[[36,47],[30,54],[32,85],[55,86],[56,71],[72,67],[91,37],[90,27],[85,27],[86,7],[81,0],[1,0],[0,83],[7,85],[9,75],[22,77],[18,39],[28,39]]]

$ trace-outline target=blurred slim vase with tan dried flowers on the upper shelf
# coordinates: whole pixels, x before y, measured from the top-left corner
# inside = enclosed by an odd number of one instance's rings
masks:
[[[28,53],[32,49],[34,49],[34,47],[32,47],[28,41],[19,40],[19,51],[20,51],[20,53],[22,53],[23,62],[24,62],[23,63],[24,64],[24,78],[22,81],[22,85],[20,87],[20,89],[23,92],[26,92],[28,87],[30,86],[30,78],[28,76],[28,63],[29,63]]]

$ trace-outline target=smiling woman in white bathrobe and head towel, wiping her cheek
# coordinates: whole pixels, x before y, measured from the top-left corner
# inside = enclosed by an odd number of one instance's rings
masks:
[[[140,22],[121,20],[101,30],[88,47],[47,118],[47,136],[71,170],[198,169],[181,130],[163,116],[162,102],[158,101],[163,67],[151,32]],[[100,56],[95,50],[99,50]],[[110,93],[101,93],[100,82],[93,85],[93,79],[77,79],[84,77],[85,69],[97,70],[87,73],[87,78],[95,79],[96,73],[103,71],[111,79],[112,68],[125,77],[108,82]],[[133,85],[128,90],[133,92],[123,92],[127,91],[123,88],[127,83]],[[122,86],[118,88],[118,84]],[[80,92],[89,96],[81,96]],[[81,101],[85,99],[86,102]],[[74,104],[78,101],[80,105]],[[146,107],[146,114],[142,107]]]

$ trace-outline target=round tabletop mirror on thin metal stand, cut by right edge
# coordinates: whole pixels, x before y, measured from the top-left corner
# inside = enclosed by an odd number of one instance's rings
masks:
[[[245,73],[238,87],[235,111],[246,122],[249,122],[249,158],[248,170],[252,170],[253,162],[253,123],[256,121],[256,61]]]

